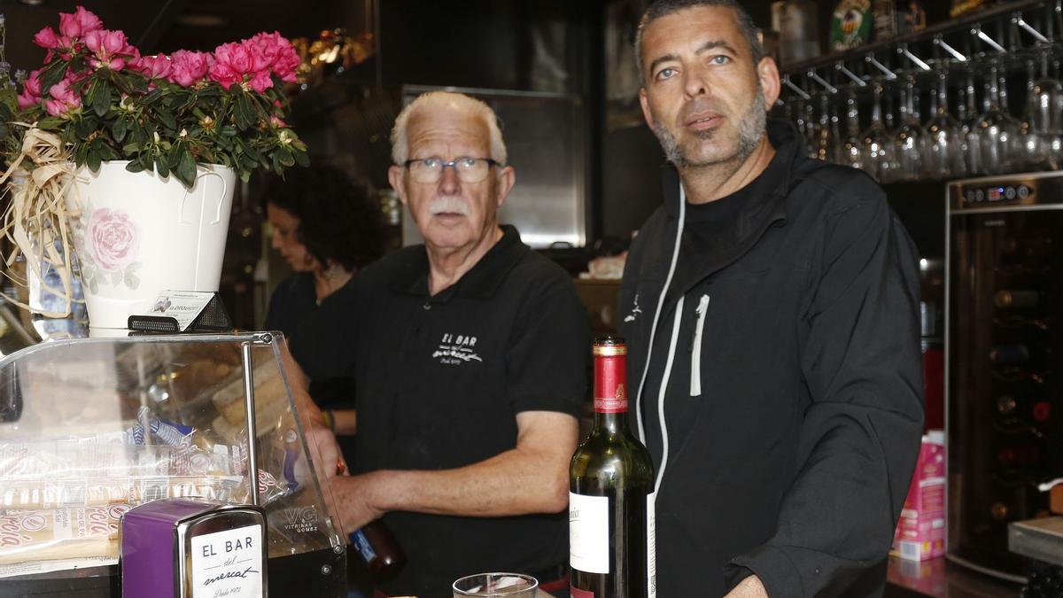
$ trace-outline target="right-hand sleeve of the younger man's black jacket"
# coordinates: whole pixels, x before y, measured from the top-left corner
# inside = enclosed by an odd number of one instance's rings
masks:
[[[772,598],[881,587],[923,430],[917,256],[884,197],[827,217],[802,325],[812,397],[774,537],[726,567]]]

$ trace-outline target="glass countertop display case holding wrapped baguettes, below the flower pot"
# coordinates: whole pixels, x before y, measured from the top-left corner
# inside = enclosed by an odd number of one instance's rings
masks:
[[[250,333],[68,338],[0,360],[0,594],[120,596],[122,513],[198,496],[265,509],[272,594],[345,596],[284,359],[283,338]]]

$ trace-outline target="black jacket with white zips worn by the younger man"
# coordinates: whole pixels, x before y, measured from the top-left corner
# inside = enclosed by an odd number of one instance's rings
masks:
[[[661,598],[720,596],[750,572],[772,598],[881,595],[919,448],[914,245],[871,178],[807,157],[789,124],[769,135],[776,156],[715,243],[685,235],[659,314],[675,170],[627,259],[621,333],[660,476]]]

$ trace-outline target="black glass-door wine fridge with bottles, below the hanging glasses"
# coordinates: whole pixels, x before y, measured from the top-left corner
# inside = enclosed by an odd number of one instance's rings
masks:
[[[1063,475],[1063,172],[947,187],[947,553],[1013,581],[1008,524]]]

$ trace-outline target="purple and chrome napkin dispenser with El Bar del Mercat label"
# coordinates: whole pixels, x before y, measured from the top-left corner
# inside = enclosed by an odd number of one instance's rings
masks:
[[[147,502],[122,516],[123,598],[267,598],[266,515],[197,498]]]

